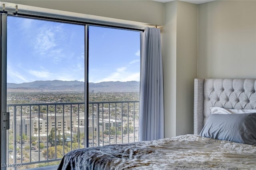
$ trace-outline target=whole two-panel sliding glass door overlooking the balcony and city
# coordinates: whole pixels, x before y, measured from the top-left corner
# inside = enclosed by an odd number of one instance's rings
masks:
[[[139,80],[138,31],[1,14],[1,168],[138,141]]]

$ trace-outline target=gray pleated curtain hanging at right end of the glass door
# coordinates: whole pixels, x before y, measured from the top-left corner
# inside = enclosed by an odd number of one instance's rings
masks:
[[[164,92],[159,28],[140,33],[139,141],[164,138]]]

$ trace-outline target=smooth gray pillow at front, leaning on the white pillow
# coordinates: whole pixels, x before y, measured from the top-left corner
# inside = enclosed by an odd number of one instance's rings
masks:
[[[256,113],[211,114],[199,135],[256,145]]]

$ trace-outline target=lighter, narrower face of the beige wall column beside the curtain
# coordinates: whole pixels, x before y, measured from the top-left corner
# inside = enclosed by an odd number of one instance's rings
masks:
[[[164,72],[164,136],[176,135],[176,45],[177,2],[165,3],[162,27],[162,56]]]

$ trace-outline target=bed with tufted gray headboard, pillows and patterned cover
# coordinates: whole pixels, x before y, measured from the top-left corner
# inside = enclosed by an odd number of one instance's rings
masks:
[[[256,79],[195,79],[194,134],[74,150],[58,170],[256,170],[255,90]]]

